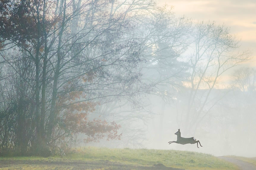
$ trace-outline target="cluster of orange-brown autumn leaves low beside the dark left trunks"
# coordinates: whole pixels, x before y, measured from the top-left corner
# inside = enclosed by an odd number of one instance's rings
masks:
[[[91,81],[91,78],[79,78],[81,81]],[[70,90],[74,87],[73,82],[68,82],[64,89]],[[95,118],[89,120],[88,116],[95,111],[95,107],[100,105],[97,102],[82,101],[86,95],[83,91],[70,91],[65,95],[59,96],[57,101],[57,119],[61,122],[59,125],[65,133],[77,134],[83,133],[87,135],[84,142],[99,142],[100,139],[106,137],[107,140],[118,139],[122,134],[118,134],[121,125],[113,122],[107,122]]]

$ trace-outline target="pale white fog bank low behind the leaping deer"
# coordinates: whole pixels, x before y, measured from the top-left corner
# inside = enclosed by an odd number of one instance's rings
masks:
[[[127,124],[131,125],[132,127],[129,128],[132,135],[126,137],[123,133],[124,139],[120,141],[107,143],[102,141],[92,146],[175,149],[202,152],[214,156],[255,157],[255,93],[228,91],[226,94],[227,91],[215,89],[212,94],[213,98],[222,97],[223,94],[225,96],[211,108],[208,114],[203,115],[204,118],[201,121],[199,121],[201,119],[199,116],[189,122],[189,127],[184,122],[185,114],[179,114],[179,111],[182,113],[187,108],[181,100],[175,99],[171,105],[168,105],[160,97],[152,97],[150,105],[152,105],[151,111],[154,115],[147,123],[139,118],[132,122],[125,121],[126,123],[122,126],[127,128]],[[196,140],[200,140],[203,147],[197,148],[196,144],[172,143],[168,145],[167,142],[176,141],[177,136],[174,133],[178,131],[178,128],[180,128],[182,137],[195,137]]]

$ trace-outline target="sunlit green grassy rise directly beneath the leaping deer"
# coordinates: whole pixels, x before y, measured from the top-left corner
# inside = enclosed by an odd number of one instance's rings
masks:
[[[69,157],[77,160],[109,160],[144,166],[161,163],[167,167],[182,169],[237,169],[231,163],[210,154],[176,150],[86,148],[84,152]]]

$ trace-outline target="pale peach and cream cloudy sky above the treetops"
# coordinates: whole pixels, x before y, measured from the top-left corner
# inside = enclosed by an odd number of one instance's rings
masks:
[[[256,0],[157,0],[174,6],[176,16],[194,21],[215,21],[230,27],[241,38],[241,48],[250,48],[253,59],[244,65],[256,67]]]

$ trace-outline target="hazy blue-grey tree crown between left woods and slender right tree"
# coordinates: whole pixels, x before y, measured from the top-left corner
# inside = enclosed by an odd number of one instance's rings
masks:
[[[143,65],[144,82],[154,85],[156,95],[172,100],[182,85],[186,63],[182,54],[189,45],[191,21],[177,18],[172,7],[163,6],[143,16],[134,37],[141,42],[147,63]]]

